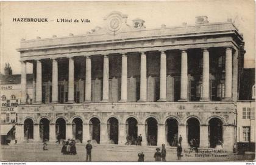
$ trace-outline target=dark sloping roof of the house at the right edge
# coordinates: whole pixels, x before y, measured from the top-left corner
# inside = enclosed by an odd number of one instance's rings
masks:
[[[244,68],[240,82],[239,100],[252,99],[252,86],[255,84],[255,68]]]

